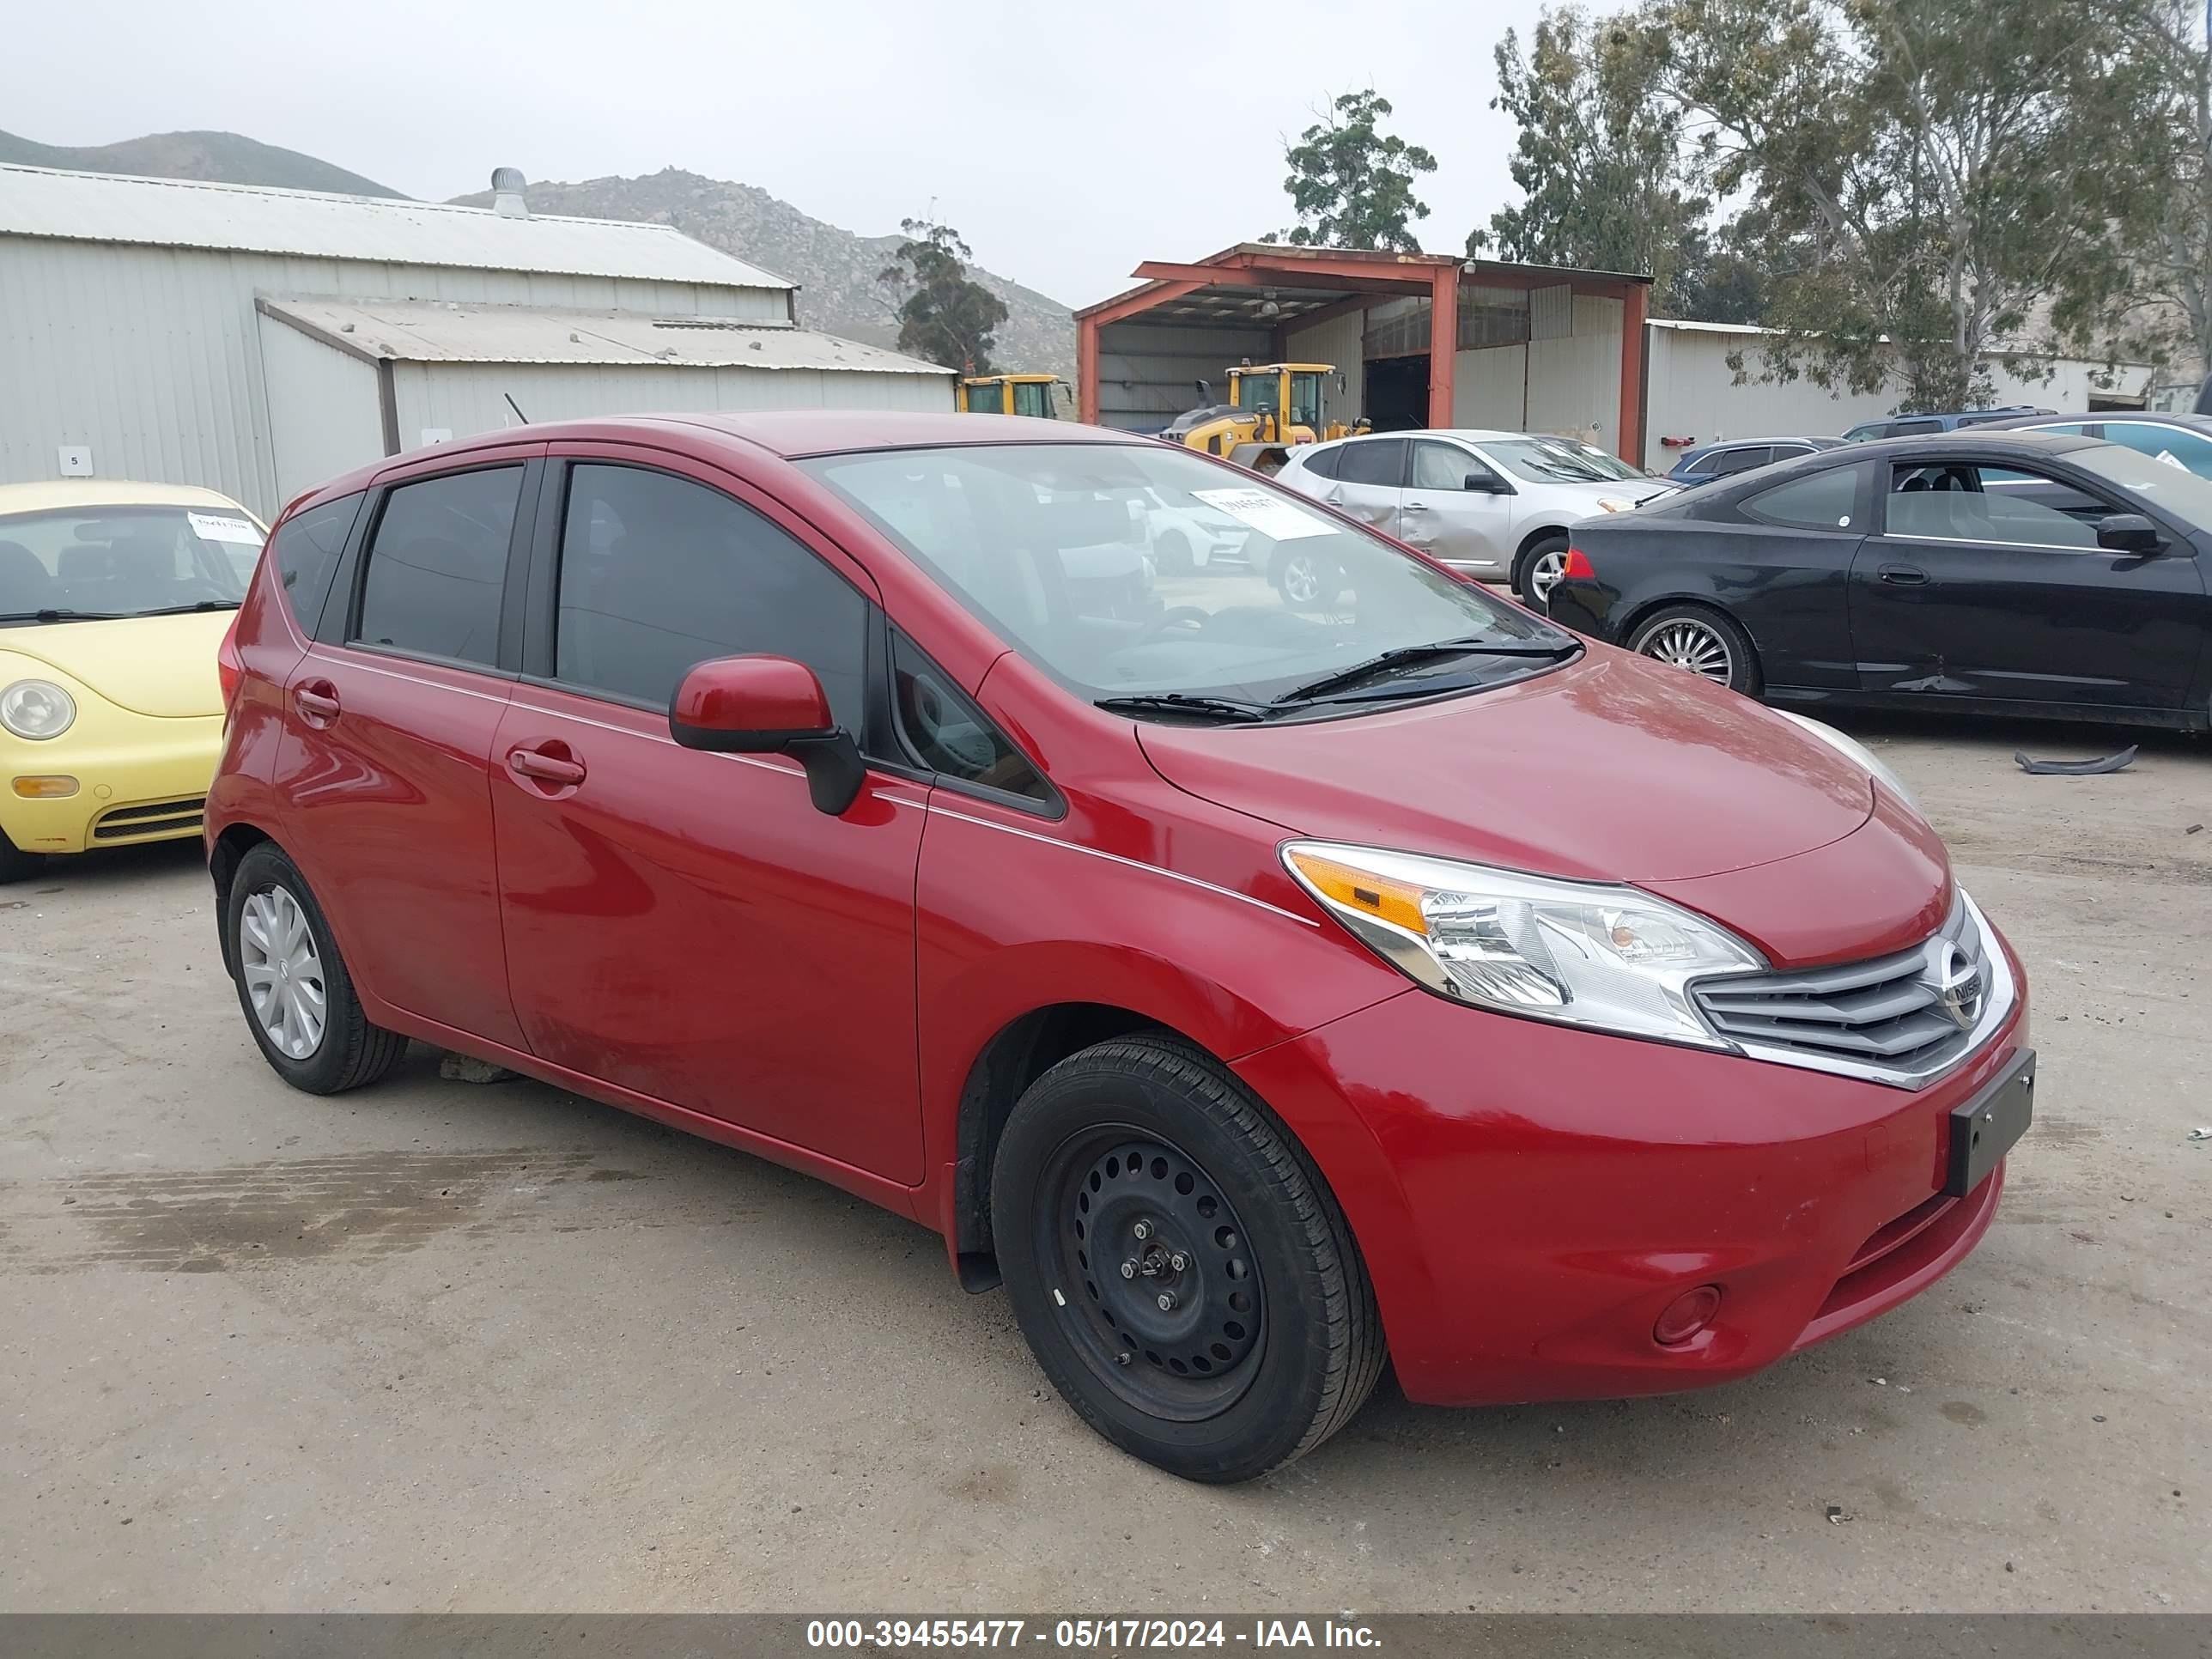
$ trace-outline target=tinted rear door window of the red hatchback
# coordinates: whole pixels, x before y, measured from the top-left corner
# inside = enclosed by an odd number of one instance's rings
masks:
[[[495,664],[520,493],[520,467],[487,467],[385,495],[354,637],[422,657]]]

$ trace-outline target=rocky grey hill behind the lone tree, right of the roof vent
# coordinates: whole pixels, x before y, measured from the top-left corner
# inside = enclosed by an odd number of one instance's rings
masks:
[[[644,219],[721,248],[750,265],[799,283],[799,321],[872,345],[898,343],[891,290],[876,281],[905,237],[856,237],[823,223],[750,184],[664,168],[635,179],[531,181],[531,212],[586,219]],[[491,192],[456,197],[487,206]],[[982,268],[969,272],[1006,301],[998,367],[1075,376],[1075,323],[1068,307]]]

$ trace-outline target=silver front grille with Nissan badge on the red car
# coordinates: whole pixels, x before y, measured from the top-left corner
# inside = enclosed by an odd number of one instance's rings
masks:
[[[1703,980],[1692,993],[1705,1022],[1750,1055],[1918,1088],[1982,1044],[2013,1004],[2013,980],[1960,894],[1909,951]]]

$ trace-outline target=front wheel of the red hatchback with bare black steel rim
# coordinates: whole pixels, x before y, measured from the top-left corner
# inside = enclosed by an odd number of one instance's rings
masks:
[[[1000,1137],[991,1228],[1060,1396],[1183,1480],[1301,1458],[1383,1374],[1336,1199],[1243,1084],[1175,1040],[1102,1042],[1031,1084]]]

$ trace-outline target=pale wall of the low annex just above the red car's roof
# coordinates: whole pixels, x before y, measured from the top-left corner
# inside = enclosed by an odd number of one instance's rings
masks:
[[[319,347],[327,349],[327,347]],[[945,374],[830,369],[701,369],[564,363],[396,363],[400,447],[425,429],[453,438],[513,427],[511,396],[533,422],[604,414],[699,409],[920,409],[953,407]],[[374,411],[374,403],[369,405]],[[358,465],[358,462],[356,462]]]

